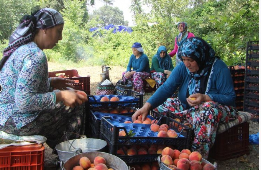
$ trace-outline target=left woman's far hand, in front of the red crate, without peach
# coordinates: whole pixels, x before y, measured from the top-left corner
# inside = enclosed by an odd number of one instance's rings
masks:
[[[70,83],[74,83],[74,80],[52,77],[51,86],[59,90],[66,90],[66,87],[74,89],[75,87]]]

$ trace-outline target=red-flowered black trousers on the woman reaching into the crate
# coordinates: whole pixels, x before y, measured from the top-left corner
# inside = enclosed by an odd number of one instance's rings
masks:
[[[214,145],[219,123],[235,120],[238,116],[236,108],[212,101],[184,110],[178,98],[167,99],[155,111],[164,116],[179,118],[182,123],[192,124],[195,132],[192,150],[200,152],[204,159],[208,158],[209,149]]]

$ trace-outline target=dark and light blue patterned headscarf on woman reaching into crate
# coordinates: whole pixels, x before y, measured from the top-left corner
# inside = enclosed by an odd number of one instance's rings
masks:
[[[181,56],[192,58],[199,67],[199,71],[195,73],[186,68],[191,76],[187,96],[195,93],[205,94],[212,65],[219,59],[215,54],[214,49],[199,37],[191,37],[182,44],[181,51],[178,53],[179,59],[182,60]]]

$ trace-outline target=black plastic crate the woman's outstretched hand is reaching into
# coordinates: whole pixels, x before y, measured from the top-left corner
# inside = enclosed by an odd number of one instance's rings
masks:
[[[117,127],[110,122],[110,117],[103,117],[101,119],[101,135],[106,138],[106,141],[111,145],[130,145],[130,144],[161,144],[161,145],[179,145],[184,146],[184,148],[189,149],[191,143],[191,133],[192,129],[185,126],[182,123],[175,121],[174,119],[167,117],[158,118],[158,123],[169,125],[169,129],[174,129],[179,133],[179,137],[170,138],[170,137],[130,137],[127,133],[127,129],[125,127]],[[176,125],[180,129],[176,128]],[[124,130],[127,134],[126,137],[119,136],[119,131]],[[182,135],[182,137],[181,137]]]

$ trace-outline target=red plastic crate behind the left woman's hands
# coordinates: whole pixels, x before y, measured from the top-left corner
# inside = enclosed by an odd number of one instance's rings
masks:
[[[57,77],[60,74],[63,74],[65,77],[70,77],[67,79],[76,80],[76,81],[78,80],[79,82],[77,81],[77,83],[71,83],[73,86],[75,86],[76,90],[86,90],[88,95],[91,94],[89,75],[87,77],[81,77],[80,75],[78,75],[77,70],[52,71],[48,73],[49,77]]]

